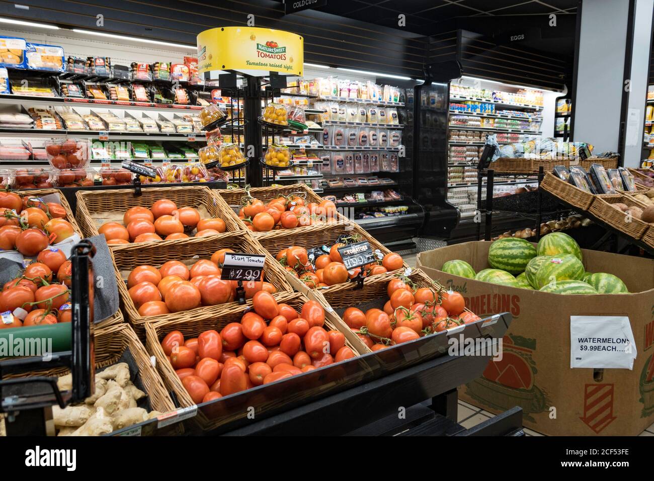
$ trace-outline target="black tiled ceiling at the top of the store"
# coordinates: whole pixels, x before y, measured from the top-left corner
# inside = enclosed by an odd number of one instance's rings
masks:
[[[492,20],[497,16],[574,15],[578,3],[579,0],[327,0],[325,7],[315,10],[434,35],[442,31],[440,22],[455,18],[484,17]],[[400,14],[405,15],[405,27],[398,27]]]

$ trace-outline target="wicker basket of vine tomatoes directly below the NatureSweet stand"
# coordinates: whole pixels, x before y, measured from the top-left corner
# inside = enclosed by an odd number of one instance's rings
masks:
[[[245,229],[247,228],[244,223],[241,222],[241,219],[239,219],[238,216],[238,211],[241,208],[241,199],[243,199],[243,196],[246,195],[246,190],[244,188],[234,188],[234,189],[224,189],[224,190],[216,190],[216,194],[222,198],[222,200],[225,201],[227,205],[230,206],[230,212],[233,214],[233,219],[235,223],[237,223],[240,228]],[[311,190],[309,187],[307,187],[305,184],[294,184],[294,185],[284,185],[281,187],[253,187],[250,188],[249,190],[250,196],[261,200],[264,202],[269,202],[270,200],[276,199],[278,197],[282,196],[290,196],[290,195],[298,195],[301,198],[305,200],[307,204],[309,202],[314,202],[315,204],[320,204],[322,202],[322,198],[318,196],[313,190]],[[336,223],[342,224],[342,223],[349,223],[349,219],[339,213],[338,211],[336,212],[336,216],[334,217],[334,220]],[[316,225],[321,225],[321,224],[316,224]],[[296,227],[294,229],[288,229],[288,232],[303,232],[307,229],[310,229],[315,226],[305,226],[305,227]],[[285,230],[285,229],[281,229]],[[271,230],[268,232],[251,232],[251,234],[256,237],[256,238],[261,238],[261,237],[266,237],[271,234],[275,234],[277,232],[280,232],[280,230]]]

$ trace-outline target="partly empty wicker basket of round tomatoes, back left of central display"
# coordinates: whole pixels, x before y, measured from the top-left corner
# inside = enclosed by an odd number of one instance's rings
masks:
[[[85,236],[97,236],[97,228],[106,222],[104,215],[109,212],[125,212],[130,207],[143,206],[148,209],[160,199],[169,199],[178,207],[206,209],[208,216],[225,221],[228,231],[241,230],[230,209],[216,198],[215,191],[203,185],[187,187],[145,188],[140,196],[131,188],[118,190],[79,190],[77,192],[77,219]],[[122,219],[120,221],[122,223]],[[125,244],[111,245],[113,249]]]

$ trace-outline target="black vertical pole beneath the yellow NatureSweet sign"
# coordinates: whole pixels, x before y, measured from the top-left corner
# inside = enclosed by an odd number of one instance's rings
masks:
[[[259,159],[264,156],[261,128],[258,118],[261,116],[261,78],[246,77],[247,85],[245,86],[245,101],[243,102],[243,116],[245,123],[245,156],[250,158],[250,163],[245,168],[247,173],[247,183],[252,187],[262,187],[263,169]]]

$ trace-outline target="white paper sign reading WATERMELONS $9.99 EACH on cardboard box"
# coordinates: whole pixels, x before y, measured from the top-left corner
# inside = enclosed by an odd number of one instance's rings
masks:
[[[570,368],[632,369],[636,354],[627,316],[570,316]]]

